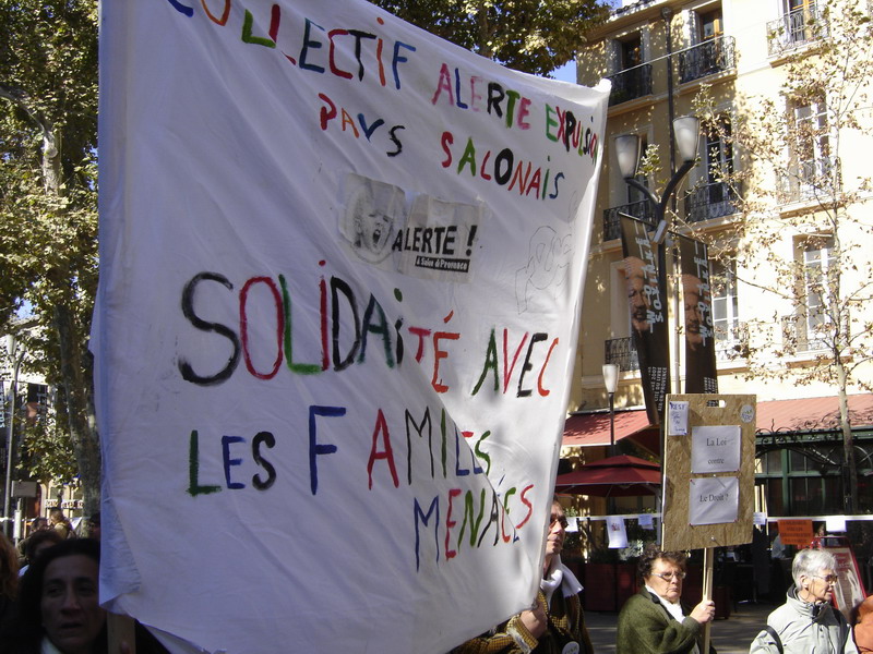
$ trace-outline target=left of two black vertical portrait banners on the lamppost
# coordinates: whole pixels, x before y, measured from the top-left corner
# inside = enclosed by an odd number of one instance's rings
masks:
[[[660,424],[670,392],[667,298],[658,286],[658,257],[646,225],[621,216],[621,245],[631,307],[631,331],[649,423]]]

